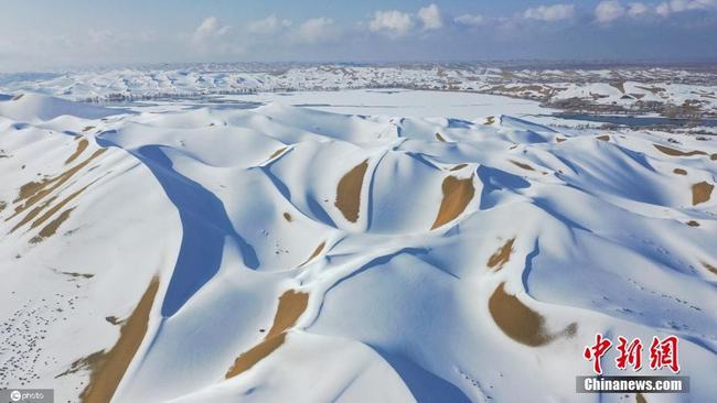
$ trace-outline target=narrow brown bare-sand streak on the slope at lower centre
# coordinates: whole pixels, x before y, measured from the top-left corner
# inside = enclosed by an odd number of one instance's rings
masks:
[[[286,340],[287,330],[296,325],[309,303],[309,294],[289,290],[279,297],[279,307],[274,317],[274,325],[264,340],[242,353],[224,375],[229,379],[254,367],[257,362],[279,348]]]

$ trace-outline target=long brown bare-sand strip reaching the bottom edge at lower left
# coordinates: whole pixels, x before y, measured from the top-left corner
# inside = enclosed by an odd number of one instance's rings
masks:
[[[119,339],[108,351],[101,351],[89,368],[89,383],[79,394],[84,403],[106,403],[113,399],[117,385],[122,380],[127,367],[135,358],[147,334],[149,313],[159,290],[159,279],[153,277],[139,304],[119,329]]]

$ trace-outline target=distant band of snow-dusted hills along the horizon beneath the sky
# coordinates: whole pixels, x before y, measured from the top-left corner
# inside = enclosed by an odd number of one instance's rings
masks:
[[[258,67],[257,67],[258,68]],[[248,72],[244,65],[125,68],[0,76],[0,90],[73,100],[118,101],[254,91],[418,88],[536,99],[569,110],[717,116],[717,72],[709,68],[556,69],[471,65],[319,65]]]

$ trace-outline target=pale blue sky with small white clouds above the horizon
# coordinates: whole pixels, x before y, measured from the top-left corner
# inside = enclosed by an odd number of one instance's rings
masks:
[[[717,59],[717,0],[0,6],[0,70],[161,62]]]

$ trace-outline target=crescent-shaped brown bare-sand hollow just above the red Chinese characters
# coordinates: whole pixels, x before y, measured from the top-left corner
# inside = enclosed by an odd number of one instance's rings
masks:
[[[525,306],[514,295],[505,292],[501,283],[488,302],[493,320],[503,333],[513,340],[532,347],[544,346],[560,336],[571,337],[577,331],[577,324],[568,325],[563,331],[549,335],[545,329],[545,318]]]

